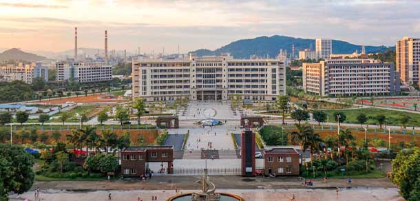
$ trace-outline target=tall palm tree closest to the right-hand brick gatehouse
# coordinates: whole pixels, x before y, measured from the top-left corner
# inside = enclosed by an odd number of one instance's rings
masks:
[[[303,125],[299,125],[295,123],[295,127],[297,131],[293,131],[291,133],[291,141],[295,144],[299,144],[300,150],[302,150],[302,158],[305,154],[305,149],[309,147],[309,139],[311,135],[313,135],[313,128],[308,123],[304,123]],[[303,160],[302,160],[303,162]]]

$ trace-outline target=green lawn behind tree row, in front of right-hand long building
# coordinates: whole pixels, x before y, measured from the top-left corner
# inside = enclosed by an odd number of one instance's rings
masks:
[[[334,113],[340,111],[339,109],[331,109],[331,110],[324,110],[326,114],[328,115],[328,122],[335,122]],[[410,116],[410,120],[407,123],[406,126],[408,127],[419,127],[419,119],[420,114],[414,114],[414,113],[407,113],[407,112],[401,112],[401,111],[394,111],[394,110],[388,110],[388,109],[377,109],[377,108],[359,108],[359,109],[344,109],[341,110],[346,114],[346,120],[344,123],[358,123],[357,122],[357,116],[359,114],[366,114],[368,116],[367,124],[375,125],[377,124],[377,120],[375,120],[375,116],[379,114],[383,114],[386,116],[386,121],[388,122],[388,125],[401,125],[399,122],[399,119],[402,115]]]

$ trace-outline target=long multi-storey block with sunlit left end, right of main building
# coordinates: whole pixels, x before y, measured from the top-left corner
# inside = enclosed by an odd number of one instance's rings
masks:
[[[392,63],[373,59],[328,59],[304,63],[303,88],[319,96],[367,96],[400,92],[399,72]]]

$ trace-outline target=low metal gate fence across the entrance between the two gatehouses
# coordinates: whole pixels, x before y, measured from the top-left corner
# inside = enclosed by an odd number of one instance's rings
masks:
[[[241,175],[242,170],[239,167],[208,168],[207,173],[213,176]],[[201,176],[203,174],[204,168],[174,168],[176,176]]]

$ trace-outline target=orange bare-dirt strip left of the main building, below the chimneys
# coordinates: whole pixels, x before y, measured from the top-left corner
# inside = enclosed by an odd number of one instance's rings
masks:
[[[47,104],[63,104],[66,102],[74,103],[123,103],[128,102],[128,99],[115,96],[115,98],[108,98],[109,94],[93,94],[93,95],[81,95],[78,97],[52,99],[52,100],[41,100],[36,103],[47,103]]]

